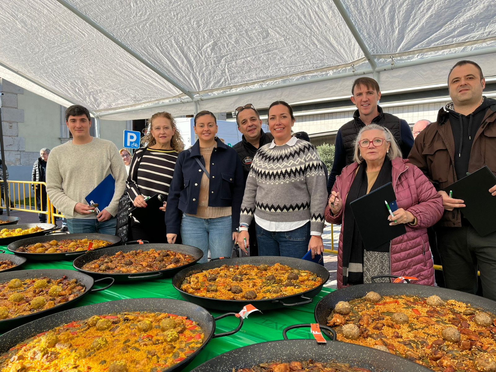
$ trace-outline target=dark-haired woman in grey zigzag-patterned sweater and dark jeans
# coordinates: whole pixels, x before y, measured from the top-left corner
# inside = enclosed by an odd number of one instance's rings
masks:
[[[269,107],[272,143],[258,150],[248,175],[241,205],[239,242],[247,240],[256,222],[261,256],[302,258],[323,252],[322,231],[327,190],[322,162],[315,147],[292,135],[293,109],[283,101]],[[242,249],[244,243],[240,244]]]

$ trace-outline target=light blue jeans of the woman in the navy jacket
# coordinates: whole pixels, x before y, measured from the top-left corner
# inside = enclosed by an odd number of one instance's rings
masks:
[[[181,237],[186,246],[200,248],[203,251],[203,257],[198,263],[207,262],[209,248],[211,258],[231,257],[233,254],[231,216],[198,218],[183,213]]]

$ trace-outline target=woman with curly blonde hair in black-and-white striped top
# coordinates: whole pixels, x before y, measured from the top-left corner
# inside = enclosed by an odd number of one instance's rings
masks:
[[[126,191],[133,205],[140,208],[146,208],[147,197],[155,194],[164,195],[164,204],[160,207],[164,216],[146,223],[140,223],[133,218],[132,239],[167,243],[165,226],[167,196],[176,160],[179,152],[184,150],[181,133],[177,130],[172,115],[167,112],[153,114],[148,121],[142,143],[144,147],[137,149],[132,156]]]

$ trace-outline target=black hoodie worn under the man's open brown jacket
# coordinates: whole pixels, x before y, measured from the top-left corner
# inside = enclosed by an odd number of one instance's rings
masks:
[[[455,142],[454,166],[457,180],[467,175],[475,134],[482,124],[488,107],[495,104],[496,100],[483,97],[481,105],[472,114],[466,116],[455,112],[452,103],[446,105]]]

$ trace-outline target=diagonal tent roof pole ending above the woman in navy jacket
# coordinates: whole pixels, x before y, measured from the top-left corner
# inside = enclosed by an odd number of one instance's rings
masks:
[[[186,94],[191,100],[194,99],[194,96],[184,87],[182,84],[174,80],[172,77],[167,75],[165,72],[161,71],[157,67],[155,67],[153,64],[150,62],[146,61],[143,57],[141,57],[138,53],[133,51],[131,48],[129,48],[127,45],[125,45],[122,41],[117,39],[114,35],[109,33],[106,29],[104,29],[102,26],[100,26],[98,23],[96,23],[93,19],[88,17],[86,14],[82,13],[79,11],[76,7],[73,5],[69,4],[65,0],[57,0],[61,5],[65,6],[69,11],[77,15],[79,18],[81,18],[83,21],[85,21],[87,24],[89,24],[91,27],[93,27],[95,30],[100,32],[103,36],[105,36],[107,39],[111,40],[114,44],[117,46],[121,47],[124,49],[126,53],[131,55],[134,59],[138,60],[139,62],[143,63],[146,67],[151,69],[153,72],[155,72],[157,75],[168,81],[170,84],[172,84],[175,88],[179,89],[181,92]]]

